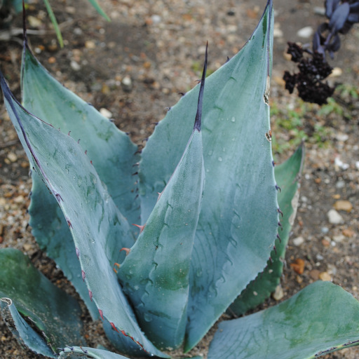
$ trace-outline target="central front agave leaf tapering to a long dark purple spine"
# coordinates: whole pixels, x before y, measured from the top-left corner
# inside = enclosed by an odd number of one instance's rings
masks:
[[[207,53],[187,147],[118,271],[142,329],[163,349],[179,347],[187,325],[189,269],[205,179],[201,111],[206,65]]]

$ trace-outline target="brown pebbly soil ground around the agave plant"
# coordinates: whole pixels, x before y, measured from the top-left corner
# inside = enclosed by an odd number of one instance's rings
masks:
[[[359,299],[358,26],[342,36],[341,50],[330,60],[337,67],[337,76],[330,82],[343,86],[334,100],[320,109],[289,95],[281,78],[285,69],[295,69],[284,55],[286,42],[311,41],[311,36],[305,38],[297,32],[304,27],[316,29],[325,21],[320,15],[324,1],[273,2],[276,25],[271,105],[276,161],[284,161],[301,137],[306,138],[301,199],[279,297],[287,299],[321,278],[332,280]],[[153,123],[163,118],[179,93],[187,92],[201,76],[205,42],[209,41],[209,69],[214,71],[243,46],[266,1],[102,0],[111,22],[101,18],[86,0],[53,3],[65,47],[58,46],[42,1],[32,1],[27,21],[32,33],[29,41],[37,57],[65,86],[97,109],[110,111],[116,125],[144,145]],[[0,32],[0,67],[18,98],[21,36],[14,34],[20,28],[18,15],[11,27]],[[0,248],[22,250],[50,280],[68,288],[61,271],[39,251],[27,227],[28,171],[27,158],[1,101]],[[341,216],[339,223],[327,216],[334,208]],[[290,265],[297,259],[304,261],[303,273]],[[274,302],[269,299],[264,306]],[[86,326],[90,345],[108,346],[106,339],[99,337],[98,323]],[[203,342],[196,353],[205,355],[206,348]],[[348,348],[324,358],[358,357],[357,348]],[[1,322],[0,358],[36,356],[21,348]]]

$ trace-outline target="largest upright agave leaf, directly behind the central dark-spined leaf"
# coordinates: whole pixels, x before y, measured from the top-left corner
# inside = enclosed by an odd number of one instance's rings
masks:
[[[272,29],[268,1],[248,43],[206,81],[206,180],[191,262],[187,351],[263,271],[276,239],[278,203],[267,138]],[[186,147],[198,90],[199,86],[185,94],[168,111],[142,151],[142,224]]]

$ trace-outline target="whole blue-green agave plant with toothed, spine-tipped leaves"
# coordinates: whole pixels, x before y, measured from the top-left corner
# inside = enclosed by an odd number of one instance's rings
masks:
[[[275,166],[272,29],[269,0],[250,40],[207,79],[206,52],[201,83],[142,153],[53,79],[25,39],[22,105],[0,82],[32,168],[32,231],[121,355],[88,348],[79,304],[6,248],[1,315],[22,344],[50,358],[170,358],[174,348],[194,348],[225,311],[240,316],[273,292],[304,147]],[[208,359],[315,358],[359,344],[358,323],[351,294],[313,283],[278,306],[219,323]]]

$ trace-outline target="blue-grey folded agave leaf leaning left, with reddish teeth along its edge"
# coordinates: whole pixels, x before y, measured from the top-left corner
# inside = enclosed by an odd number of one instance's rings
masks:
[[[112,269],[115,262],[123,260],[119,250],[133,245],[126,218],[116,208],[79,144],[29,114],[15,100],[2,74],[0,83],[6,109],[33,170],[46,183],[65,215],[90,299],[114,330],[131,337],[145,351],[166,357],[144,337]]]

